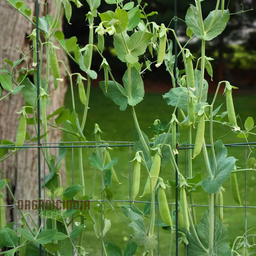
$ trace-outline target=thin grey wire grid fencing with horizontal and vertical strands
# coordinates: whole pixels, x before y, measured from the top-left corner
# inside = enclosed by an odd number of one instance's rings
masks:
[[[154,143],[150,143],[150,146],[153,146]],[[185,176],[186,176],[186,172],[187,172],[187,157],[188,157],[188,154],[186,153],[188,149],[193,149],[194,148],[194,144],[183,144],[183,145],[180,145],[178,147],[178,150],[185,150]],[[256,147],[256,142],[250,142],[250,143],[229,143],[229,144],[224,144],[224,146],[226,147],[242,147],[245,149],[245,152],[244,152],[244,155],[245,155],[245,161],[247,161],[247,149],[248,148],[252,148],[252,147]],[[131,191],[132,191],[132,174],[131,174],[131,160],[133,159],[131,157],[131,148],[134,147],[134,142],[132,141],[87,141],[87,142],[48,142],[48,143],[40,143],[40,145],[38,146],[37,143],[28,143],[28,144],[24,144],[23,146],[21,147],[16,147],[15,145],[13,144],[9,144],[9,145],[0,145],[0,149],[1,148],[7,148],[9,150],[12,150],[12,148],[19,148],[19,150],[17,150],[17,155],[19,153],[19,151],[21,150],[27,150],[29,148],[70,148],[72,150],[72,185],[74,184],[74,149],[75,148],[91,148],[92,150],[95,149],[95,148],[107,148],[107,147],[127,147],[129,148],[129,196],[130,196],[130,199],[128,200],[116,200],[114,199],[113,201],[114,202],[117,202],[117,203],[120,203],[120,202],[123,202],[123,203],[128,203],[130,204],[130,206],[132,206],[132,203],[135,202],[137,204],[151,204],[150,201],[144,201],[144,200],[134,200],[132,201],[131,199]],[[206,145],[206,147],[211,147],[211,145]],[[11,154],[15,153],[15,151],[13,151]],[[16,155],[16,161],[17,161],[17,169],[18,169],[18,160],[17,160],[17,155]],[[4,156],[6,157],[6,155]],[[4,158],[3,157],[3,158]],[[2,158],[2,159],[3,159]],[[0,159],[1,161],[1,159]],[[41,160],[41,161],[44,161]],[[245,165],[245,168],[246,165]],[[46,164],[45,164],[45,161],[44,161],[44,177],[46,175]],[[242,205],[242,206],[229,206],[229,205],[223,205],[223,206],[218,206],[215,204],[214,208],[215,209],[218,209],[218,207],[223,207],[223,208],[243,208],[244,211],[245,211],[245,236],[247,235],[247,209],[251,208],[251,209],[254,209],[256,208],[256,206],[248,206],[247,205],[247,172],[245,172],[245,197],[244,197],[244,200],[245,200],[245,204]],[[103,181],[103,174],[101,175],[101,184],[104,184],[104,181]],[[45,187],[43,188],[44,189],[44,197],[43,199],[45,200]],[[17,192],[17,191],[15,191]],[[16,193],[15,193],[16,194]],[[157,197],[156,199],[158,198],[158,192],[157,192]],[[73,200],[73,199],[72,199]],[[101,204],[101,214],[103,214],[103,203],[104,202],[108,202],[108,200],[105,200],[103,199],[103,193],[101,193],[101,199],[97,200],[97,199],[88,199],[88,200],[79,200],[80,202],[83,202],[83,201],[89,201],[89,202],[99,202]],[[59,203],[63,203],[63,201],[59,200],[58,201]],[[57,203],[57,201],[51,201],[51,203],[53,203],[54,205]],[[31,205],[39,205],[38,202],[35,202],[34,204],[32,202],[27,202],[25,201],[25,203],[18,203],[18,201],[16,201],[14,204],[8,204],[8,205],[1,205],[0,207],[10,207],[10,208],[15,208],[15,223],[18,223],[17,222],[17,215],[19,214],[19,212],[17,211],[17,207],[23,207],[23,209],[26,210],[26,207],[29,208],[29,206]],[[156,205],[156,220],[157,220],[157,255],[160,255],[161,253],[161,249],[159,247],[161,241],[159,239],[159,208],[158,208],[158,200],[156,200],[155,202],[155,205]],[[177,204],[177,202],[175,203],[168,203],[168,205],[172,208],[172,209],[175,209],[175,206],[176,205],[180,205],[179,203]],[[188,204],[188,206],[191,206],[191,207],[209,207],[209,205],[207,204]],[[215,210],[216,211],[216,210]],[[216,218],[216,214],[215,214],[215,218]],[[73,220],[73,217],[72,217],[72,220]],[[44,223],[45,223],[45,220],[44,220]],[[216,221],[215,221],[216,223]],[[74,228],[74,223],[72,221],[72,229]],[[103,234],[103,222],[101,222],[101,233]],[[215,233],[215,236],[216,236],[216,233]],[[132,239],[133,239],[133,233],[132,233],[132,228],[130,227],[130,237],[129,237],[129,240],[130,242],[132,242]],[[177,241],[176,241],[177,242]],[[216,246],[215,246],[216,247]],[[103,245],[103,236],[101,238],[101,250],[102,250],[102,253],[103,253],[103,248],[104,248],[104,245]],[[73,252],[73,255],[75,255],[75,252]],[[104,255],[104,253],[102,254]],[[186,255],[187,255],[187,251],[186,251]],[[215,255],[217,255],[217,251],[215,249]],[[180,256],[183,256],[183,255],[180,255]]]

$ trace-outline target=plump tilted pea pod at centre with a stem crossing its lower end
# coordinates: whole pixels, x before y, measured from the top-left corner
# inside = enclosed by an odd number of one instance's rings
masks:
[[[160,165],[161,165],[161,156],[159,155],[158,152],[155,153],[153,161],[152,161],[152,165],[150,168],[150,176],[155,176],[151,178],[151,185],[152,185],[152,189],[155,189],[156,186],[156,182],[159,176],[159,172],[160,172]],[[150,178],[147,178],[147,182],[143,191],[143,196],[150,194],[151,190],[150,190]]]

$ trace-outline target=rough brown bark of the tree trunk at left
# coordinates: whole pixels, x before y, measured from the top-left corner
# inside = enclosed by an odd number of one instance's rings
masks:
[[[35,16],[35,1],[24,0],[28,8],[32,9],[32,16]],[[38,1],[39,2],[39,17],[50,14],[52,17],[55,13],[55,1]],[[46,5],[47,3],[47,10]],[[35,28],[25,17],[23,17],[17,10],[12,8],[5,0],[0,0],[0,70],[3,67],[3,59],[9,59],[16,61],[21,58],[20,51],[27,53],[31,50],[30,45],[32,42],[26,38],[31,34]],[[58,29],[61,30],[61,25]],[[54,41],[54,44],[56,41]],[[19,51],[10,48],[13,47]],[[21,49],[21,50],[20,50]],[[40,50],[40,49],[39,49]],[[58,60],[63,60],[66,65],[68,63],[67,57],[62,50],[56,50]],[[39,54],[40,56],[40,54]],[[28,59],[29,67],[32,67],[33,56]],[[43,61],[45,62],[46,56],[44,55]],[[7,65],[8,66],[8,65]],[[23,62],[18,67],[26,66]],[[43,65],[44,67],[44,65]],[[64,95],[66,92],[66,71],[62,65],[60,65],[61,78],[64,78],[63,82],[59,82],[59,87],[54,91],[53,78],[50,76],[51,81],[49,83],[49,94],[52,95],[51,105],[47,108],[48,113],[54,112],[57,108],[64,105]],[[45,77],[45,68],[42,70],[42,75]],[[66,80],[66,81],[65,81]],[[2,97],[6,94],[3,90]],[[25,105],[25,101],[22,97],[21,92],[12,95],[10,94],[4,100],[0,101],[0,140],[6,139],[15,142],[16,131],[18,127],[19,115],[16,112]],[[62,136],[60,130],[49,129],[49,142],[58,142]],[[35,134],[33,125],[27,125],[27,131],[30,136]],[[9,151],[10,152],[10,151]],[[50,153],[57,155],[58,149],[50,149]],[[44,160],[41,154],[41,184],[44,177]],[[16,155],[11,156],[2,163],[0,163],[0,169],[4,173],[5,178],[10,180],[9,186],[13,191],[17,200],[33,200],[37,199],[38,195],[38,152],[37,148],[30,148],[18,152]],[[63,172],[63,170],[61,170]],[[45,169],[45,174],[48,173],[48,169]],[[2,177],[0,178],[2,179]],[[65,183],[65,182],[64,182]],[[6,203],[13,205],[15,202],[10,197],[8,191],[5,191],[7,195]],[[44,193],[41,194],[43,197]],[[32,217],[35,218],[38,223],[38,212],[36,210],[29,210],[24,212],[30,212]],[[17,209],[6,207],[7,221],[14,221],[14,223],[20,221],[20,214]],[[28,218],[27,218],[28,219]],[[29,221],[31,223],[31,221]]]

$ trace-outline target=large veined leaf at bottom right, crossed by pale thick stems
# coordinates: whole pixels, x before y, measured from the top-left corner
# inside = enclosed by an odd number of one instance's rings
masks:
[[[195,225],[196,232],[198,237],[205,248],[209,248],[209,211],[205,212],[205,215],[199,221],[197,225]],[[195,233],[193,229],[190,227],[190,234],[187,233],[187,250],[189,256],[208,256],[208,253],[202,250],[198,241],[195,237]],[[184,230],[184,233],[186,231]],[[216,238],[216,241],[215,241]],[[215,236],[214,236],[214,245],[216,244],[216,254],[214,250],[214,255],[223,256],[229,250],[229,237],[227,227],[216,218],[216,227],[215,227]]]

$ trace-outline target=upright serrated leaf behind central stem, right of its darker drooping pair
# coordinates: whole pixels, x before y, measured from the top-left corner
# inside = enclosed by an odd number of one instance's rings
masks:
[[[130,106],[135,106],[143,100],[144,97],[144,84],[140,73],[135,67],[131,67],[131,98],[127,100]],[[128,94],[128,69],[123,76],[123,83],[126,93]]]

